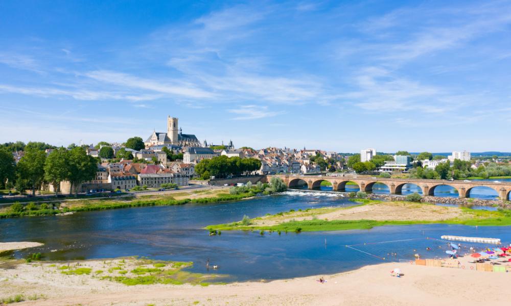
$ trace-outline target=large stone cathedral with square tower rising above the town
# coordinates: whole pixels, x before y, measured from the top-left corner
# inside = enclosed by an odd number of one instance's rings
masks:
[[[156,145],[174,145],[179,147],[200,147],[200,141],[192,134],[183,134],[177,124],[178,118],[167,118],[167,133],[156,131],[145,141],[146,148]]]

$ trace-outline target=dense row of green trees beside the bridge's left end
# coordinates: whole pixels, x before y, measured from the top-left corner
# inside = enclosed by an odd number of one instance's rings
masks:
[[[239,176],[249,174],[261,168],[261,161],[255,158],[228,158],[225,155],[216,156],[212,159],[203,159],[195,165],[195,173],[203,180],[211,176],[217,178],[228,175]]]

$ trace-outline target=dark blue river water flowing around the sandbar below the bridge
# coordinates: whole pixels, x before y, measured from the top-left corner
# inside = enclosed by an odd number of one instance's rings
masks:
[[[350,206],[335,194],[288,191],[284,194],[207,205],[187,204],[81,212],[69,216],[0,220],[0,241],[36,241],[44,246],[15,251],[18,258],[42,252],[44,260],[144,256],[193,261],[190,270],[227,274],[227,281],[331,274],[385,261],[444,256],[442,235],[481,236],[511,241],[509,227],[463,225],[381,226],[371,230],[277,233],[222,232],[202,228],[290,209]],[[393,242],[388,242],[393,241]],[[382,243],[383,242],[383,243]],[[373,244],[375,243],[375,244]],[[352,247],[346,247],[350,245]],[[426,251],[426,247],[432,250]],[[468,247],[468,245],[466,246]],[[387,253],[396,252],[397,256]],[[209,259],[219,270],[207,271]]]

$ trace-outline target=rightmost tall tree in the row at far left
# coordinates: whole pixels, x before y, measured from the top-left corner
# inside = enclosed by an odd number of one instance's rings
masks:
[[[76,147],[69,151],[69,172],[66,177],[71,182],[69,194],[72,193],[73,187],[75,187],[78,196],[78,186],[85,181],[94,179],[97,171],[96,159],[87,155],[84,148]]]

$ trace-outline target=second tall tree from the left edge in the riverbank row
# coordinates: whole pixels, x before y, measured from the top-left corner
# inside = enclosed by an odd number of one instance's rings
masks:
[[[35,189],[39,189],[44,180],[45,160],[46,154],[43,150],[29,147],[18,162],[18,179],[26,182],[27,186],[32,189],[32,195],[35,195]]]

